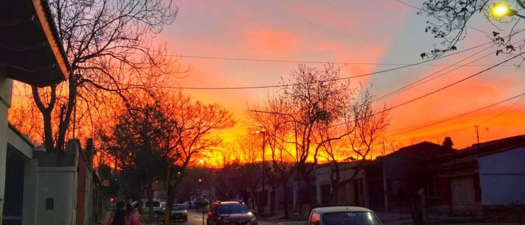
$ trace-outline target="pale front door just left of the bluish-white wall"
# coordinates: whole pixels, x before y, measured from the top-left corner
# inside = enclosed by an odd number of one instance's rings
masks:
[[[450,179],[452,191],[452,210],[456,215],[474,214],[474,181],[472,177]]]

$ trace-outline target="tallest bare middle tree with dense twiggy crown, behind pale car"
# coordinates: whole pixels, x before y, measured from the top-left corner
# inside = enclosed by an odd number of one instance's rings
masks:
[[[298,131],[297,170],[307,184],[306,203],[313,204],[310,174],[317,165],[322,142],[334,139],[328,137],[315,143],[315,129],[327,126],[344,116],[344,111],[350,103],[350,81],[341,79],[340,68],[333,64],[325,65],[323,69],[299,65],[297,70],[291,72],[291,77],[289,83],[292,85],[285,86],[283,98],[292,108]],[[335,137],[337,138],[340,137]],[[313,159],[312,163],[307,162],[310,159]],[[302,207],[299,209],[302,212]]]

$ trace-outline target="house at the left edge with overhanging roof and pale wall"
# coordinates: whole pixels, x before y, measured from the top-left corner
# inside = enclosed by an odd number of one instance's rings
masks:
[[[27,224],[23,204],[35,193],[23,190],[37,176],[33,144],[7,121],[13,80],[44,87],[69,75],[46,1],[8,1],[0,7],[0,224]],[[33,201],[33,204],[35,202]]]

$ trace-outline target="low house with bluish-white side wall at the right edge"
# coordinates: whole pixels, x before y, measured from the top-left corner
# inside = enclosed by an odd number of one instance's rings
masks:
[[[525,136],[475,144],[437,161],[426,171],[431,211],[489,216],[525,207]]]

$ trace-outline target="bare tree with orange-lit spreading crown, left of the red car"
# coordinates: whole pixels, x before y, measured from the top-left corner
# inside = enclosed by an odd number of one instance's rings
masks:
[[[175,137],[173,144],[176,148],[170,153],[170,166],[164,175],[167,184],[167,212],[171,211],[177,194],[176,188],[185,176],[186,167],[194,163],[195,156],[218,147],[221,143],[220,138],[213,136],[213,131],[235,125],[232,114],[217,104],[205,105],[182,92],[177,92],[171,99],[173,102],[169,104],[173,113]],[[169,224],[169,219],[169,213],[166,213],[165,224]]]

